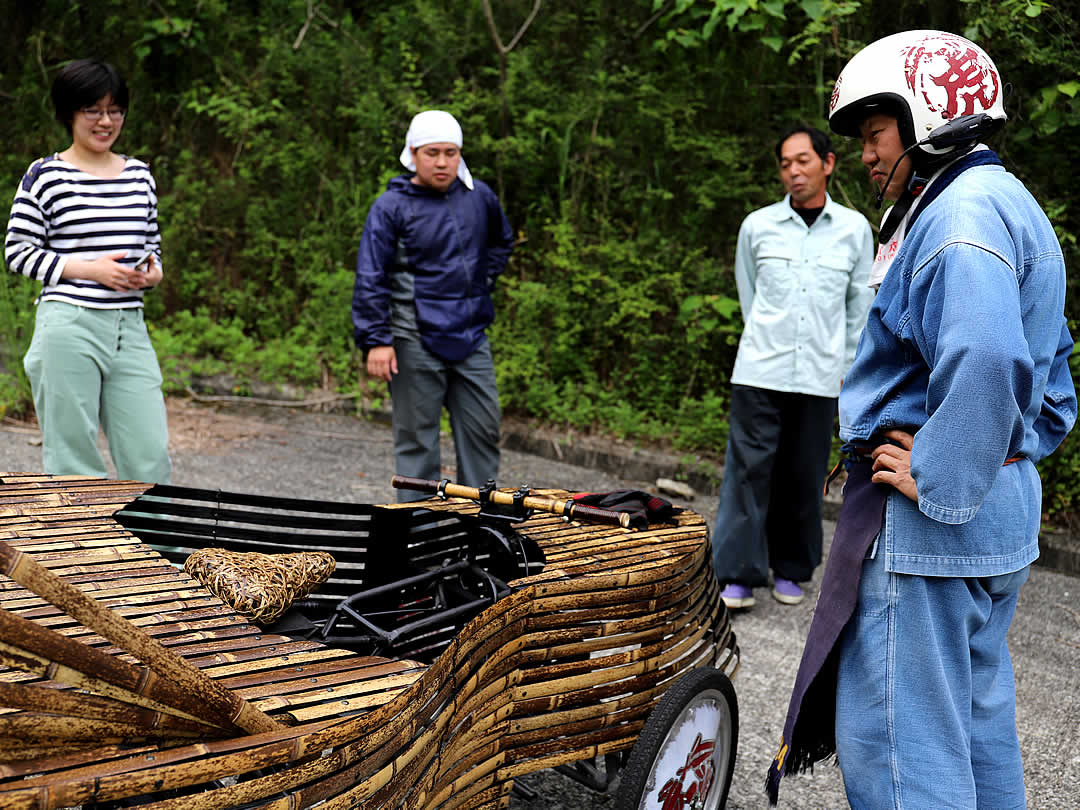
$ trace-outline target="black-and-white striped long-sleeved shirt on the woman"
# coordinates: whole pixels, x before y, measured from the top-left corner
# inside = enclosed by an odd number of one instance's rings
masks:
[[[111,178],[86,174],[53,154],[30,164],[15,191],[8,220],[8,268],[41,282],[38,300],[65,301],[91,309],[143,306],[141,289],[110,289],[86,279],[64,279],[68,259],[92,260],[127,252],[134,265],[147,251],[161,261],[158,189],[150,167],[125,158]]]

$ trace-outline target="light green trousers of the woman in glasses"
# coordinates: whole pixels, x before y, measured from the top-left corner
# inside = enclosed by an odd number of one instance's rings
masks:
[[[51,475],[106,475],[100,423],[121,478],[167,484],[168,422],[161,368],[141,309],[38,305],[23,360]]]

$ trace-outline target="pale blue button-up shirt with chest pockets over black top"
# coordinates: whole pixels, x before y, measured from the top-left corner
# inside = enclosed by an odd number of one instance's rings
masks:
[[[731,381],[836,396],[874,299],[873,262],[869,222],[828,195],[809,228],[791,195],[747,216],[735,247],[745,326]]]

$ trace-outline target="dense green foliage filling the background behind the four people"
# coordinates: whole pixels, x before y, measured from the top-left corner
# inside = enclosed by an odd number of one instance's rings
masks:
[[[532,0],[492,5],[505,42]],[[566,0],[543,4],[504,78],[474,0],[9,6],[0,187],[67,146],[49,103],[56,69],[117,64],[132,90],[120,148],[159,185],[165,280],[147,314],[177,388],[228,370],[367,390],[351,340],[355,248],[410,117],[440,107],[518,237],[491,330],[504,409],[718,454],[741,330],[734,239],[781,193],[773,137],[824,125],[845,62],[905,28],[988,43],[1014,89],[995,147],[1069,267],[1080,257],[1080,189],[1061,171],[1080,159],[1071,0]],[[876,225],[858,146],[836,149],[833,195]],[[8,408],[29,402],[32,287],[0,286]],[[1077,301],[1070,289],[1072,315]],[[1080,498],[1074,446],[1043,464],[1059,514]]]

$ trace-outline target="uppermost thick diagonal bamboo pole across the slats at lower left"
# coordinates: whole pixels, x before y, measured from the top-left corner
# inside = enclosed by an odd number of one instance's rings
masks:
[[[211,680],[204,673],[163,647],[126,619],[103,607],[75,585],[68,584],[31,557],[0,540],[0,571],[24,588],[64,610],[68,616],[108,638],[146,663],[150,672],[198,696],[212,710],[248,733],[273,731],[279,727],[237,694]]]

